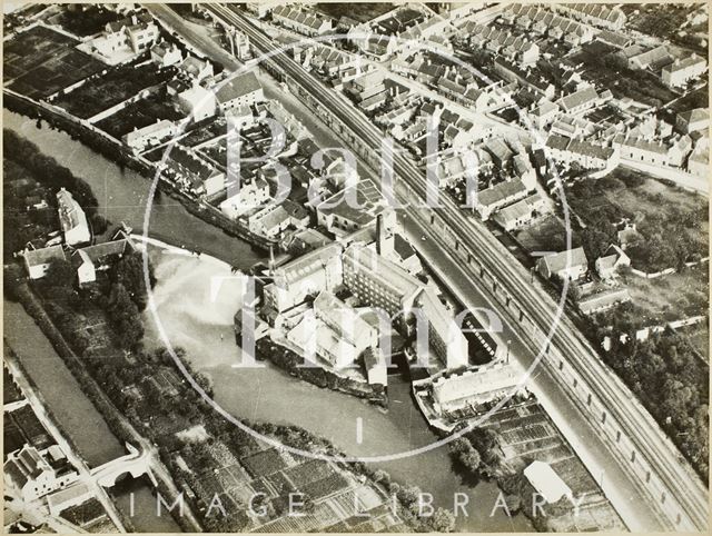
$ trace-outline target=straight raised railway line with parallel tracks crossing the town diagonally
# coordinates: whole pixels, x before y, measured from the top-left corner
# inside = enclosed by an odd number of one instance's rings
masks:
[[[277,51],[274,42],[257,30],[241,13],[220,4],[205,3],[202,7],[222,22],[238,27],[246,32],[253,46],[260,52],[275,53]],[[382,132],[355,107],[349,106],[342,96],[327,89],[320,80],[301,69],[287,53],[276,52],[267,61],[273,62],[273,68],[281,70],[315,102],[318,102],[319,106],[328,110],[328,113],[338,119],[353,133],[354,143],[360,149],[362,155],[368,155],[369,151],[373,155],[380,150]],[[422,171],[399,151],[395,151],[393,160],[395,176],[403,181],[397,185],[400,192],[409,191],[415,197],[425,199],[432,185],[427,183]],[[448,197],[441,196],[439,202],[442,205],[439,208],[428,209],[432,215],[425,225],[442,227],[442,247],[463,259],[462,270],[467,277],[482,281],[484,275],[488,274],[493,279],[491,291],[495,298],[500,296],[498,301],[503,301],[501,294],[497,294],[500,289],[506,296],[504,298],[505,308],[510,307],[511,302],[518,307],[522,339],[530,340],[532,346],[538,346],[545,351],[544,363],[551,367],[552,374],[558,374],[558,370],[566,366],[571,367],[576,377],[582,378],[581,386],[585,386],[590,391],[587,404],[581,405],[582,413],[587,418],[592,418],[592,397],[595,396],[597,407],[603,408],[603,414],[599,414],[596,417],[601,420],[601,427],[603,428],[607,419],[610,419],[607,427],[614,426],[613,424],[617,425],[619,433],[615,440],[609,440],[612,454],[620,459],[622,449],[616,449],[616,445],[627,439],[632,447],[632,454],[629,455],[627,464],[621,465],[632,467],[644,460],[652,468],[654,475],[647,472],[647,475],[641,478],[633,468],[630,468],[629,476],[636,480],[639,488],[645,490],[653,509],[664,515],[664,525],[674,529],[706,530],[709,524],[708,489],[686,461],[682,459],[678,448],[651,415],[620,378],[601,361],[596,350],[584,335],[563,311],[557,310],[556,304],[543,288],[530,281],[528,271],[490,234],[484,225],[467,218],[462,208]],[[447,244],[448,239],[454,242],[454,246]],[[533,329],[527,330],[526,322],[530,322]],[[550,343],[546,343],[544,334],[548,334],[551,337]],[[553,363],[560,364],[558,370],[552,365]],[[574,384],[575,388],[576,384]],[[568,391],[571,396],[572,388],[570,386],[564,390]],[[662,494],[655,493],[653,495],[651,484],[653,476],[659,479],[664,489]],[[674,508],[674,504],[679,505],[679,509]]]

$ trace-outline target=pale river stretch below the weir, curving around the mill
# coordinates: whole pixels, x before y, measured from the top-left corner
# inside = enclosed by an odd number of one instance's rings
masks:
[[[156,315],[145,314],[145,344],[148,348],[167,343],[185,348],[192,368],[210,378],[215,401],[235,417],[299,426],[328,439],[348,456],[397,455],[438,439],[418,411],[409,381],[400,374],[388,378],[389,406],[383,411],[365,400],[295,379],[270,363],[260,364],[260,368],[236,368],[240,353],[233,334],[233,316],[240,304],[239,287],[229,279],[229,268],[160,251],[155,251],[151,260],[157,278]],[[211,294],[214,280],[222,281],[217,296]],[[156,317],[168,340],[161,337]],[[357,438],[358,421],[362,433]],[[461,513],[456,518],[457,530],[533,530],[522,515],[507,517],[498,508],[491,516],[500,494],[496,484],[461,477],[447,447],[368,465],[432,494],[435,506],[452,509],[455,494],[463,494],[468,516]]]

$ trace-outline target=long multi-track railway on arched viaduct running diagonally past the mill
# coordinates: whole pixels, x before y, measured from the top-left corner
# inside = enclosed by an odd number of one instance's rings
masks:
[[[219,4],[204,4],[204,7],[218,19],[247,32],[253,46],[260,52],[274,50],[273,42],[257,31],[241,14]],[[319,106],[327,110],[334,119],[347,127],[348,132],[352,133],[352,143],[362,156],[366,153],[365,158],[374,158],[374,155],[379,150],[382,135],[355,107],[349,106],[318,79],[305,72],[287,54],[277,54],[271,58],[271,61],[277,63],[306,95],[319,102]],[[370,155],[368,155],[369,152]],[[398,183],[398,192],[403,195],[403,192],[412,191],[415,196],[424,198],[427,188],[421,171],[400,153],[395,155],[394,163],[396,176],[402,179]],[[556,304],[542,286],[530,281],[530,274],[518,265],[506,248],[498,244],[482,222],[467,219],[454,201],[446,198],[442,198],[441,201],[443,207],[434,211],[437,220],[442,220],[437,241],[439,255],[435,258],[438,259],[449,251],[457,251],[456,257],[459,257],[459,262],[453,269],[461,277],[471,281],[477,280],[479,276],[467,260],[463,260],[463,257],[481,260],[487,271],[496,275],[501,288],[506,289],[511,296],[515,297],[526,317],[538,330],[547,332],[557,317],[557,311]],[[437,220],[435,225],[439,224]],[[418,224],[416,222],[416,225]],[[433,226],[429,222],[427,225],[421,224],[419,228],[423,231],[429,231]],[[536,336],[527,332],[521,326],[516,327],[516,332],[518,338],[526,341],[525,346],[531,350],[538,348]],[[551,353],[561,356],[562,361],[565,361],[577,376],[583,378],[584,386],[601,400],[601,405],[609,411],[609,423],[616,423],[621,427],[637,456],[652,465],[654,475],[666,488],[668,496],[672,496],[681,505],[683,515],[678,528],[706,529],[708,492],[700,478],[686,463],[681,460],[680,453],[672,441],[622,381],[603,365],[596,350],[565,316],[561,318],[552,334]],[[553,377],[557,378],[557,375],[554,374]],[[552,385],[556,386],[557,383]],[[556,400],[557,404],[558,400],[570,396],[561,385],[548,394],[551,395],[548,398]],[[577,418],[590,420],[591,416],[580,410]],[[596,429],[592,423],[591,427]],[[599,431],[599,436],[602,436],[601,431]],[[620,455],[609,450],[604,440],[603,437],[599,437],[597,443],[601,444],[601,451],[607,451],[609,458],[619,459]],[[621,467],[621,464],[616,461],[611,461],[611,464]],[[651,523],[655,523],[656,517],[660,519],[660,527],[672,527],[674,523],[665,523],[660,517],[661,508],[655,503],[661,498],[651,498],[643,486],[639,484],[640,480],[634,479],[629,470],[624,469],[621,473],[631,480],[630,488],[637,490],[636,495],[641,499],[641,504],[649,506],[649,513],[644,518],[639,518],[634,520],[635,523],[627,522],[631,528],[650,526]]]

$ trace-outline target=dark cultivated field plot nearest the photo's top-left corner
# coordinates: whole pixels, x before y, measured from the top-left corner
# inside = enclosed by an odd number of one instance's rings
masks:
[[[106,66],[75,48],[73,39],[34,27],[4,43],[3,82],[10,89],[42,99],[91,76]]]

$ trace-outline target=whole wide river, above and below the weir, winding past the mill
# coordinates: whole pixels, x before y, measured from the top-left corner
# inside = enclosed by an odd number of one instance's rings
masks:
[[[149,181],[122,170],[69,136],[36,121],[3,111],[4,127],[21,133],[93,189],[100,210],[113,222],[142,228]],[[261,257],[246,242],[227,236],[188,214],[164,196],[151,212],[151,234],[177,245],[195,246],[233,266],[248,268]],[[175,346],[182,346],[195,367],[214,381],[216,401],[233,415],[253,420],[294,424],[333,440],[352,456],[383,456],[432,444],[436,437],[415,406],[407,383],[389,377],[390,405],[384,413],[355,397],[319,389],[267,366],[235,369],[239,358],[231,322],[237,310],[237,281],[229,268],[207,265],[195,257],[164,254],[155,259],[158,284],[154,299],[158,318]],[[221,281],[214,300],[210,287]],[[186,291],[190,289],[190,291]],[[154,316],[147,311],[147,345],[162,346]],[[362,441],[356,421],[363,423]],[[492,483],[464,483],[453,470],[446,447],[417,456],[374,464],[408,485],[433,494],[436,506],[453,507],[455,493],[467,495],[467,516],[457,517],[456,528],[467,532],[530,532],[522,515],[512,518],[502,509],[491,516],[498,489]]]

